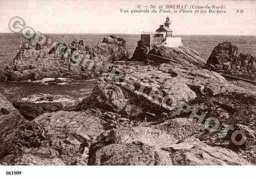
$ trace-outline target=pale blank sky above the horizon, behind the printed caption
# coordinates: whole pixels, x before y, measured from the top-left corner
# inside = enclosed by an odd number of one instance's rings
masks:
[[[137,4],[224,4],[227,13],[120,12],[136,9]],[[237,9],[244,13],[236,13]],[[256,35],[256,0],[0,0],[0,32],[10,32],[9,20],[19,16],[41,33],[139,34],[155,31],[167,15],[174,34]]]

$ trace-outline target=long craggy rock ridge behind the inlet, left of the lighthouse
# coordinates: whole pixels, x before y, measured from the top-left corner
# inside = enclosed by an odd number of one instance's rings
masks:
[[[12,65],[0,68],[0,81],[37,80],[42,78],[90,78],[92,73],[83,70],[81,59],[97,62],[111,62],[129,57],[126,41],[111,38],[114,43],[103,40],[93,47],[76,46],[54,42],[49,49],[21,49],[17,51]],[[79,59],[79,60],[77,60]]]

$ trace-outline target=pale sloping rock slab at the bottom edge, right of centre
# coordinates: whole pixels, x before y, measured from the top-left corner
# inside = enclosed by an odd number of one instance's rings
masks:
[[[208,146],[194,137],[163,150],[171,153],[173,165],[251,165],[229,149]]]

